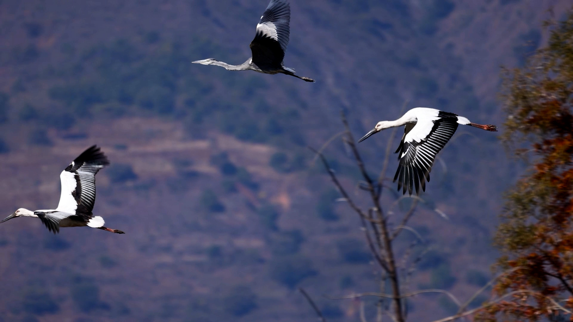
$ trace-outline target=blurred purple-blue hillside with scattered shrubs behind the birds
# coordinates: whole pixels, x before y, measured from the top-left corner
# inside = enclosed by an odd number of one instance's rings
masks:
[[[501,124],[500,65],[523,64],[570,2],[293,0],[285,65],[316,83],[190,63],[244,62],[266,5],[0,1],[0,213],[55,207],[60,171],[100,144],[112,166],[94,212],[127,233],[0,225],[0,321],[315,319],[297,286],[329,320],[355,321],[355,302],[320,295],[378,282],[357,218],[306,146],[341,131],[341,110],[361,136],[406,100]],[[374,173],[389,135],[359,146]],[[355,185],[343,144],[325,152]],[[519,174],[492,133],[458,129],[412,222],[433,250],[411,289],[467,299],[484,284],[501,194]],[[410,318],[452,310],[421,296]]]

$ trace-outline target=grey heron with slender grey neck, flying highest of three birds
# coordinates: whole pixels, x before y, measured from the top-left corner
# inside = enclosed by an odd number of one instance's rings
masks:
[[[229,65],[213,58],[194,61],[195,64],[215,65],[226,70],[254,70],[265,74],[283,73],[305,81],[315,81],[295,74],[295,69],[282,65],[288,45],[291,6],[285,0],[270,0],[257,24],[257,33],[250,44],[253,56],[241,65]]]

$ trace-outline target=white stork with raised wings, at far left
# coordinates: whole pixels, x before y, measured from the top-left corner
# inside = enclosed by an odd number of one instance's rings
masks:
[[[20,208],[2,222],[16,217],[40,218],[54,234],[60,227],[93,227],[124,234],[123,231],[104,227],[104,218],[92,214],[96,201],[96,174],[109,160],[97,146],[89,147],[60,174],[62,191],[56,209],[30,211]]]

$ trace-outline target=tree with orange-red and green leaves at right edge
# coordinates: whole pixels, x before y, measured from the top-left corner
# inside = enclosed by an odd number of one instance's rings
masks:
[[[481,321],[573,321],[573,10],[545,26],[547,47],[504,70],[502,138],[530,167],[506,196]]]

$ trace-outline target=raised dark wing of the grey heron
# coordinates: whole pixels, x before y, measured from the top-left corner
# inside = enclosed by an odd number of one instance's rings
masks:
[[[257,25],[257,34],[250,44],[253,63],[261,69],[282,66],[288,46],[291,7],[285,0],[271,0]]]

